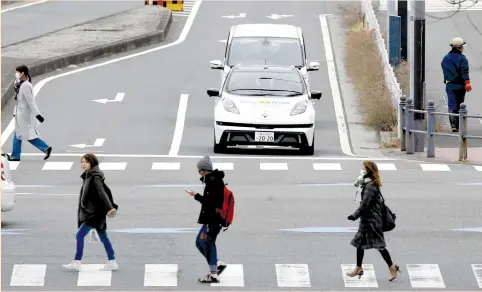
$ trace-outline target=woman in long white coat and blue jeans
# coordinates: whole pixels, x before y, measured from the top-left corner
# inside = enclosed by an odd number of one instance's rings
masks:
[[[44,160],[50,157],[52,147],[40,139],[37,130],[38,122],[43,123],[44,118],[35,102],[32,79],[25,65],[18,66],[15,73],[15,132],[13,135],[13,150],[10,157],[11,161],[20,161],[22,153],[22,141],[27,140],[37,149],[45,153]]]

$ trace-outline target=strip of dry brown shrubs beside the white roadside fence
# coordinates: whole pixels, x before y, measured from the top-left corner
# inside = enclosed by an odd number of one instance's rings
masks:
[[[340,7],[349,28],[346,33],[345,67],[358,93],[364,124],[377,131],[393,131],[397,125],[396,109],[385,84],[375,32],[365,30],[362,14],[355,5]]]

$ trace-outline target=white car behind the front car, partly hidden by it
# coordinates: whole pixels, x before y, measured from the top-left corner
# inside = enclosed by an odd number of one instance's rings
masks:
[[[319,62],[308,62],[303,32],[288,24],[240,24],[232,26],[227,38],[224,61],[213,60],[211,69],[222,70],[221,87],[235,65],[295,66],[305,78],[317,71]]]

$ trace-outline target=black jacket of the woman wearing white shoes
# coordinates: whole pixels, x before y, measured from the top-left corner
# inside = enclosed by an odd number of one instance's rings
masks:
[[[95,166],[80,177],[83,179],[83,184],[79,196],[77,226],[80,227],[85,223],[99,231],[105,231],[107,212],[113,207],[104,189],[104,173],[99,166]]]

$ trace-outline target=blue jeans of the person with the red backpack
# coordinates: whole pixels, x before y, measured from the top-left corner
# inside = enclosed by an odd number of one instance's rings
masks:
[[[221,231],[221,226],[203,225],[196,237],[196,247],[206,258],[211,272],[218,270],[218,253],[216,249],[216,238]]]

